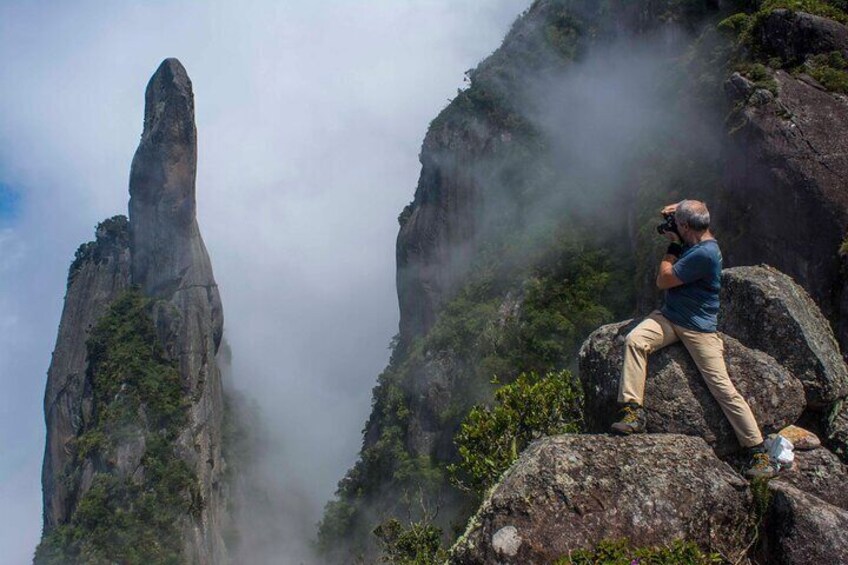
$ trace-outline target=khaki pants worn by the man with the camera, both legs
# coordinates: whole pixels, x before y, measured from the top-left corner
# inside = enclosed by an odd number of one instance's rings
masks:
[[[624,368],[618,401],[642,404],[648,355],[666,345],[682,341],[689,351],[710,392],[733,426],[743,447],[763,441],[751,408],[733,386],[724,365],[724,344],[717,333],[704,333],[673,324],[659,310],[642,320],[625,340]]]

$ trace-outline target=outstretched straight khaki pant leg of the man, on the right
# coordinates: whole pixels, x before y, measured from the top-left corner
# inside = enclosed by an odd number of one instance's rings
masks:
[[[751,447],[763,441],[760,428],[751,412],[751,407],[733,386],[724,363],[724,343],[717,333],[704,333],[674,326],[680,341],[686,346],[710,392],[721,406],[722,412],[733,426],[736,437],[743,447]]]

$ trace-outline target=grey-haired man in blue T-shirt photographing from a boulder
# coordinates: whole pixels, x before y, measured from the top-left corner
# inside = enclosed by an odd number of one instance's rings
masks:
[[[724,345],[716,333],[721,250],[710,233],[710,213],[703,202],[683,200],[666,206],[662,214],[673,214],[677,225],[677,233],[664,232],[671,243],[657,274],[657,287],[666,291],[665,302],[661,310],[652,312],[627,335],[618,393],[618,401],[624,405],[623,415],[612,429],[621,434],[645,431],[642,400],[648,355],[681,341],[733,426],[739,443],[751,452],[751,464],[745,474],[751,478],[773,477],[777,469],[765,453],[763,436],[751,408],[727,374]]]

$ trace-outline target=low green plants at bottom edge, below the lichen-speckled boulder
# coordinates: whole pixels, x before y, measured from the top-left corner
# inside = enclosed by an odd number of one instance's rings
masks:
[[[604,540],[590,551],[579,550],[556,565],[712,565],[723,563],[716,553],[704,553],[695,543],[677,540],[667,546],[634,548],[628,540]]]

